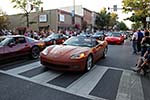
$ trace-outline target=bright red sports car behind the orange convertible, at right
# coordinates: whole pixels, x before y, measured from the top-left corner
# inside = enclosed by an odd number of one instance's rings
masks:
[[[107,33],[105,40],[109,44],[122,44],[124,42],[124,36],[119,32],[109,32]]]

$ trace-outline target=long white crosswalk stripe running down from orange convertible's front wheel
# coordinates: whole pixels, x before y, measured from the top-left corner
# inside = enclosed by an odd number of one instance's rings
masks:
[[[72,83],[67,90],[79,94],[89,94],[107,71],[106,67],[95,66],[91,71]]]

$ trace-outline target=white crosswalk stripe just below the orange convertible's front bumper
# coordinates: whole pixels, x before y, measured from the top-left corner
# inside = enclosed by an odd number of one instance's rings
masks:
[[[61,74],[62,72],[48,70],[42,74],[32,77],[31,80],[38,83],[47,83],[48,81],[53,80],[54,78],[60,76]]]

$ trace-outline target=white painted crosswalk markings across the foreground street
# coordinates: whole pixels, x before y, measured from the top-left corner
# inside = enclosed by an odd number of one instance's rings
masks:
[[[79,79],[70,84],[67,88],[55,86],[47,83],[48,81],[58,77],[63,72],[48,70],[34,77],[27,78],[19,75],[21,72],[26,72],[35,68],[41,67],[40,62],[35,62],[32,64],[24,65],[21,67],[13,68],[7,71],[1,71],[1,73],[8,74],[14,77],[18,77],[30,82],[34,82],[49,88],[57,89],[67,93],[71,93],[77,96],[82,96],[92,100],[105,100],[105,98],[92,96],[89,93],[93,90],[99,80],[103,77],[108,69],[115,69],[123,71],[122,77],[120,79],[120,84],[118,88],[118,93],[116,100],[144,100],[143,89],[140,77],[137,74],[133,74],[130,70],[125,70],[121,68],[113,68],[108,66],[95,65],[91,71],[85,73]]]

